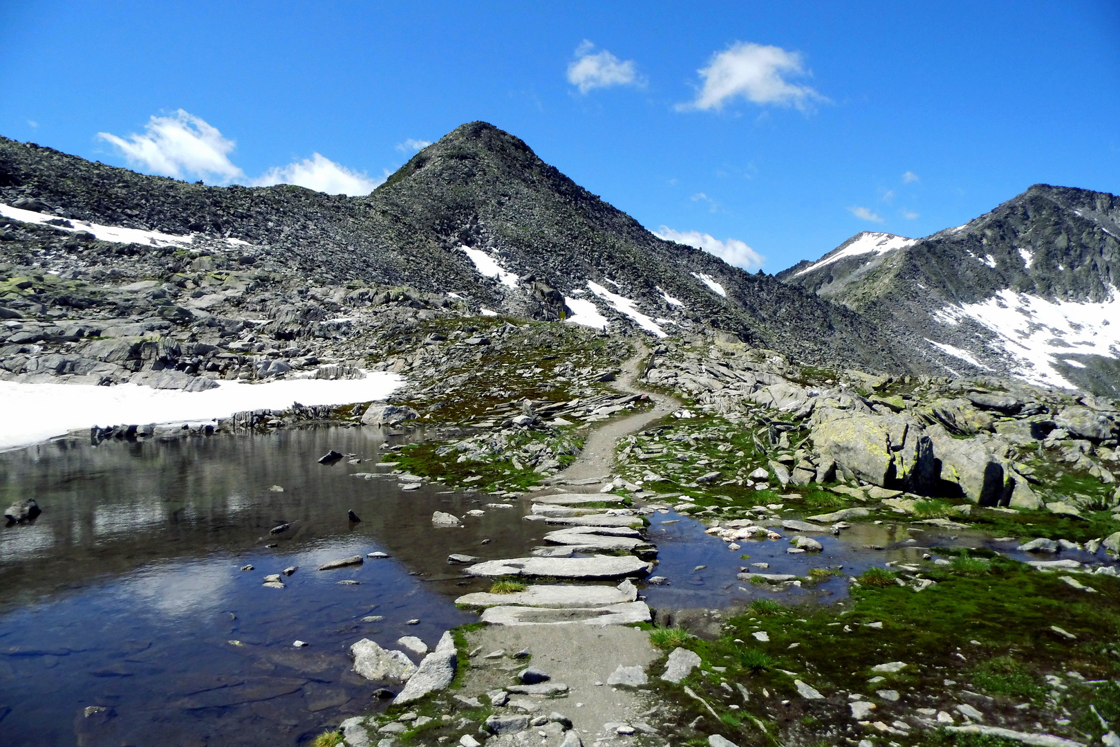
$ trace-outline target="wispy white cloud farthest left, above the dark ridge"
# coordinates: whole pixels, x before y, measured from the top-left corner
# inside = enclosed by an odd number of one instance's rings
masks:
[[[132,133],[124,139],[99,132],[97,137],[120,148],[129,164],[156,174],[177,179],[189,175],[216,181],[244,177],[228,157],[234,148],[233,140],[181,109],[170,116],[152,116],[143,134]]]

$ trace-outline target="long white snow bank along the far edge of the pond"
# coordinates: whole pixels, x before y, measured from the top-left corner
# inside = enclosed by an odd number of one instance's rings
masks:
[[[288,379],[264,384],[221,381],[205,392],[140,384],[44,384],[0,381],[0,449],[37,443],[92,426],[206,422],[242,410],[383,400],[403,383],[400,374],[366,372],[365,379]]]

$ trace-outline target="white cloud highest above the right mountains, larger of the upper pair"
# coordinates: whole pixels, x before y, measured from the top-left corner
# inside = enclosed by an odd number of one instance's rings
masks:
[[[738,41],[712,56],[708,67],[698,71],[703,87],[696,101],[678,104],[690,109],[720,110],[729,100],[741,96],[756,104],[810,108],[814,101],[828,101],[808,85],[794,85],[786,76],[806,75],[801,54],[781,47]]]

